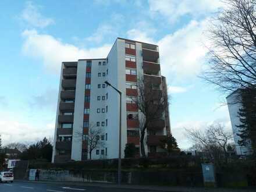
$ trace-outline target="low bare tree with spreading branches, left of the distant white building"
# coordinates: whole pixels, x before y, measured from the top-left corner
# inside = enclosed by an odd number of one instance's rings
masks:
[[[186,136],[198,150],[213,158],[215,162],[222,159],[222,154],[227,162],[227,145],[233,135],[224,129],[225,127],[218,123],[208,126],[205,131],[186,129]]]

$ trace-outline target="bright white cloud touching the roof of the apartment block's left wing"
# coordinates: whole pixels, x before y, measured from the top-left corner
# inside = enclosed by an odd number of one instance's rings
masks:
[[[24,37],[23,53],[42,59],[45,67],[55,73],[59,73],[63,61],[105,58],[112,46],[102,45],[98,48],[80,49],[74,45],[65,44],[51,35],[38,34],[36,30],[25,30],[22,36]]]

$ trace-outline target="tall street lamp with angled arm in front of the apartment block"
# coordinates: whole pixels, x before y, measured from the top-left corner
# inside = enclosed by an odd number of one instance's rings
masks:
[[[121,124],[121,112],[122,112],[122,92],[119,91],[117,88],[113,87],[112,84],[105,81],[108,86],[111,86],[114,90],[119,93],[120,96],[120,111],[119,111],[119,154],[118,154],[118,184],[121,184],[121,131],[122,131],[122,124]]]

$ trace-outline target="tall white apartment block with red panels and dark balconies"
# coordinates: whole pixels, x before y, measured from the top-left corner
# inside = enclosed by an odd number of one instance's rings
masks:
[[[117,38],[106,58],[63,62],[56,114],[52,162],[88,159],[87,138],[90,127],[103,130],[97,136],[104,143],[93,150],[91,158],[118,158],[119,94],[122,91],[122,158],[125,145],[134,143],[140,155],[141,112],[134,103],[137,81],[143,78],[166,95],[166,79],[161,76],[157,45]],[[162,117],[147,131],[147,155],[161,153],[161,140],[170,133],[168,106]]]

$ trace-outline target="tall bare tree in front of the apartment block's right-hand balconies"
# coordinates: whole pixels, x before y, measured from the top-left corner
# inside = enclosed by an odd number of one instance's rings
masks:
[[[140,117],[140,150],[141,155],[145,157],[145,133],[148,127],[155,120],[159,120],[163,116],[163,111],[168,106],[167,95],[163,95],[163,91],[159,90],[159,84],[154,84],[150,78],[137,80],[138,97],[133,98],[138,106],[139,111],[143,114]]]

